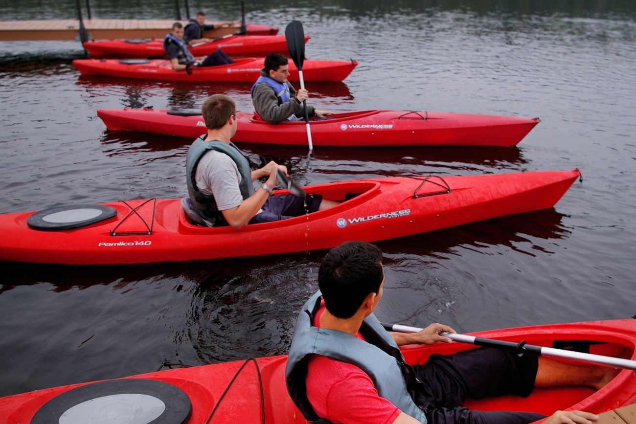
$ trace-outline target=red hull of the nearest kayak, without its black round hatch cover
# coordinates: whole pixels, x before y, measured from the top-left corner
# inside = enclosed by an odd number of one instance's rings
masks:
[[[635,359],[636,320],[607,320],[570,324],[535,325],[491,331],[471,335],[507,341],[527,341],[532,345],[553,346],[555,341],[595,341],[591,353],[616,355],[627,353]],[[430,346],[403,346],[402,352],[410,364],[423,363],[434,353],[449,355],[474,348],[471,345],[438,343]],[[626,349],[625,349],[626,348]],[[184,367],[130,376],[123,380],[143,378],[177,386],[191,402],[191,416],[186,423],[206,422],[214,413],[214,423],[261,423],[261,414],[269,423],[306,423],[293,405],[284,383],[287,357],[256,359],[263,383],[263,402],[255,364],[248,363],[237,374],[243,361],[225,362],[207,366]],[[222,393],[237,378],[219,402]],[[94,383],[94,382],[93,382]],[[60,386],[0,398],[0,422],[31,422],[36,411],[56,396],[91,383]],[[531,411],[551,414],[557,409],[579,409],[603,413],[610,409],[636,402],[636,374],[623,370],[602,389],[595,392],[586,387],[536,388],[529,397],[503,396],[492,399],[467,399],[464,406],[481,410]],[[70,405],[69,405],[70,406]]]

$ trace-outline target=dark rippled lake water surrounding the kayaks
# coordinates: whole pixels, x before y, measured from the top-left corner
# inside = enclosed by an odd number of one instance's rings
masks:
[[[43,4],[45,3],[45,4]],[[72,18],[73,1],[0,2],[4,19]],[[182,2],[183,3],[183,2]],[[174,2],[92,1],[93,17],[172,18]],[[239,18],[215,2],[210,18]],[[636,4],[632,1],[255,1],[250,22],[303,21],[307,57],[360,61],[308,85],[324,109],[539,116],[518,148],[244,146],[303,184],[378,175],[579,167],[555,209],[378,243],[387,322],[457,331],[636,314]],[[190,143],[106,133],[95,110],[198,107],[249,84],[80,78],[73,42],[0,43],[0,212],[181,197]],[[2,235],[0,235],[2,236]],[[285,353],[323,252],[178,264],[0,263],[0,395]]]

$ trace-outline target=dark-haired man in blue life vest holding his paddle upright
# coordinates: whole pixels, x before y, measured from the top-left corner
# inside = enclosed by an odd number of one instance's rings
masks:
[[[279,53],[272,53],[265,57],[265,66],[261,69],[261,76],[252,86],[252,104],[259,116],[269,123],[281,121],[295,121],[304,117],[303,100],[309,98],[309,92],[301,88],[296,92],[291,86],[288,60]],[[333,114],[328,111],[307,106],[309,116],[324,118]]]

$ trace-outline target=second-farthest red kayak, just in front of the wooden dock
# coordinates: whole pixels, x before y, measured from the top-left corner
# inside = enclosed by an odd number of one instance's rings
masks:
[[[305,43],[309,36],[305,37]],[[142,40],[96,40],[86,41],[84,48],[91,56],[134,56],[156,57],[163,56],[163,39]],[[228,55],[245,55],[252,53],[272,53],[286,51],[285,36],[236,36],[230,34],[212,40],[210,43],[198,43],[189,48],[194,56],[207,56],[218,48]]]

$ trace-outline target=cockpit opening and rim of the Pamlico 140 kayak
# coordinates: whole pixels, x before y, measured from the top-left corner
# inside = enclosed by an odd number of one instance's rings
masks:
[[[260,229],[272,229],[272,228],[285,228],[288,226],[298,225],[307,221],[316,221],[317,219],[323,219],[330,215],[342,214],[343,210],[356,207],[361,203],[366,202],[373,196],[375,196],[382,184],[379,181],[343,181],[333,182],[329,184],[320,184],[317,186],[308,186],[304,189],[309,194],[321,195],[322,198],[332,200],[333,202],[340,202],[335,207],[318,210],[312,212],[312,214],[301,215],[284,221],[263,222],[261,224],[249,224],[243,226],[240,231],[259,231]],[[289,193],[287,190],[276,190],[274,195],[285,195]],[[212,233],[225,233],[239,231],[232,227],[205,227],[195,225],[188,217],[186,212],[180,208],[179,210],[179,229],[181,231],[195,231],[195,232],[212,232]]]

